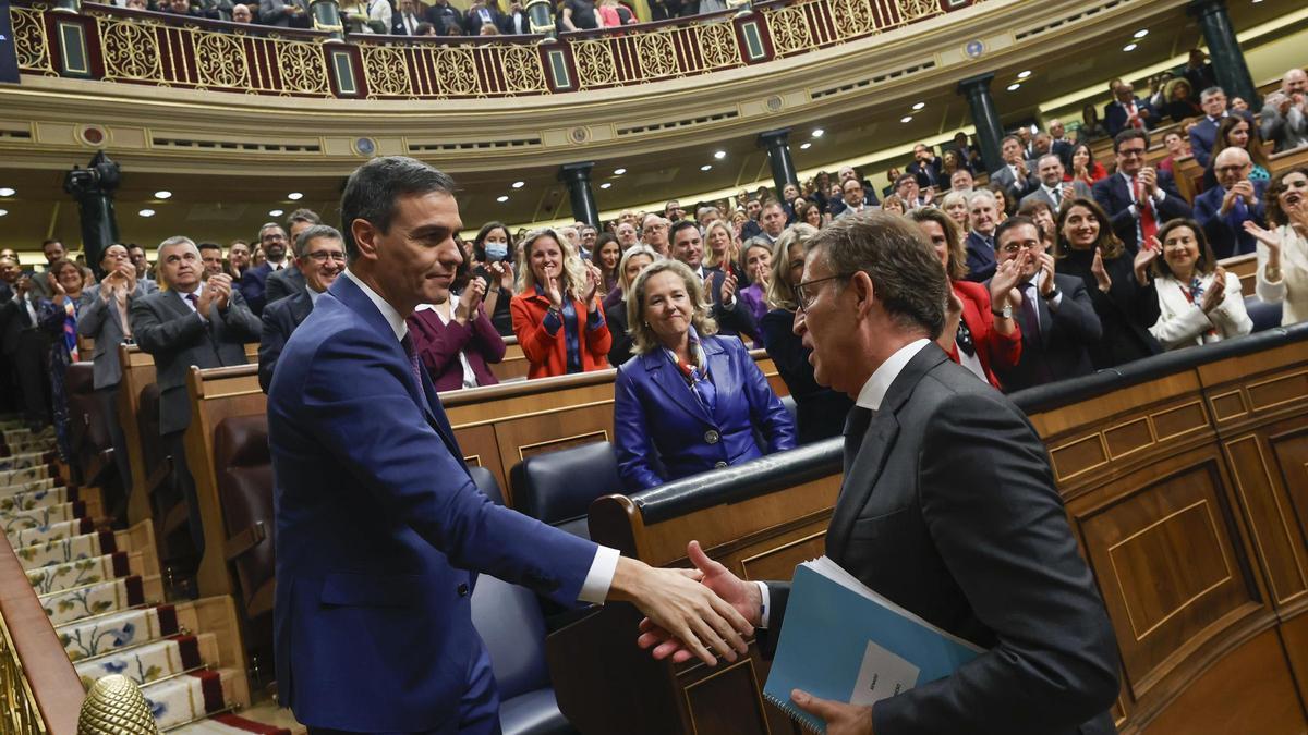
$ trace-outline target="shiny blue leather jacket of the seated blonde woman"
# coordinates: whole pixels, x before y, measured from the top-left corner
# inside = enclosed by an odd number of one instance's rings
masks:
[[[662,349],[617,369],[613,434],[630,492],[795,447],[795,421],[744,345],[712,336],[700,344],[718,391],[712,415]],[[755,428],[766,447],[759,447]]]

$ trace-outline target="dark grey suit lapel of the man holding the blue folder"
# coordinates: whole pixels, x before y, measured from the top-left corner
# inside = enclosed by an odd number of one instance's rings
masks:
[[[831,524],[827,528],[827,556],[842,558],[849,544],[849,534],[854,528],[863,507],[871,498],[876,483],[880,480],[895,439],[899,437],[899,411],[913,395],[917,383],[940,362],[948,360],[935,343],[930,343],[895,377],[891,387],[882,399],[882,408],[867,425],[867,433],[858,449],[849,472],[840,487],[840,498],[836,501],[836,510],[832,513]]]

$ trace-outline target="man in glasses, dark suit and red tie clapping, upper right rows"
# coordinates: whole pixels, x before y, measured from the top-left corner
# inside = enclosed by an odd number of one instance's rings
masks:
[[[1113,233],[1135,256],[1142,242],[1148,242],[1163,222],[1193,216],[1190,205],[1176,191],[1172,174],[1144,165],[1148,136],[1144,131],[1126,129],[1113,139],[1117,173],[1095,182],[1095,201],[1104,208]]]

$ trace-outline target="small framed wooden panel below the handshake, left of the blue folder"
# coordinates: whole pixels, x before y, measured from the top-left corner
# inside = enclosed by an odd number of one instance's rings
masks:
[[[753,659],[718,663],[697,681],[685,683],[681,691],[696,735],[765,735],[766,715],[763,709],[763,681],[753,668]]]

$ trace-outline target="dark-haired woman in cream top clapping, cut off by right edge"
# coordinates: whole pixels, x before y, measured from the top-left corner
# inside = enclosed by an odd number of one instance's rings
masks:
[[[1308,320],[1308,169],[1271,177],[1266,194],[1265,230],[1253,221],[1244,229],[1258,239],[1258,298],[1281,303],[1281,326]]]

